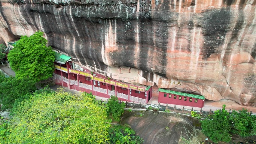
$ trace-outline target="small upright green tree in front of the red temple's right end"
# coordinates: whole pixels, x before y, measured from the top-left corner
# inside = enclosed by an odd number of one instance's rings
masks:
[[[120,116],[124,113],[125,103],[119,103],[116,96],[110,96],[107,102],[107,114],[111,114],[113,119],[117,122],[120,120]]]

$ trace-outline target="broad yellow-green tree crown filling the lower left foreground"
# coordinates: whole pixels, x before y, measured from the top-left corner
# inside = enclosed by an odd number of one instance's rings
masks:
[[[41,91],[41,92],[40,92]],[[16,105],[7,143],[105,144],[111,120],[91,94],[37,91]]]

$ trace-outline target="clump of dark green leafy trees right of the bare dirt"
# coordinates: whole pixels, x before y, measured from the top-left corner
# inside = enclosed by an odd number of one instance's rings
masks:
[[[247,110],[233,111],[231,114],[225,110],[217,110],[212,120],[203,120],[202,132],[214,143],[219,141],[229,142],[231,134],[238,134],[240,137],[256,135],[256,116],[249,116]]]

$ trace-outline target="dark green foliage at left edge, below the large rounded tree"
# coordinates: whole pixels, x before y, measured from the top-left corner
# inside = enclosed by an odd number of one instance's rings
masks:
[[[1,108],[12,108],[16,99],[22,101],[26,94],[32,94],[36,89],[35,82],[30,78],[17,79],[0,75]]]

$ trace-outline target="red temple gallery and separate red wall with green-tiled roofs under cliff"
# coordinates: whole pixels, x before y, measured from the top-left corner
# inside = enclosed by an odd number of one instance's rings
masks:
[[[147,104],[152,98],[152,87],[132,85],[110,79],[90,71],[71,60],[70,56],[55,52],[55,84],[92,95],[110,98],[116,95],[121,101]],[[204,96],[159,89],[158,102],[165,104],[203,107]]]

